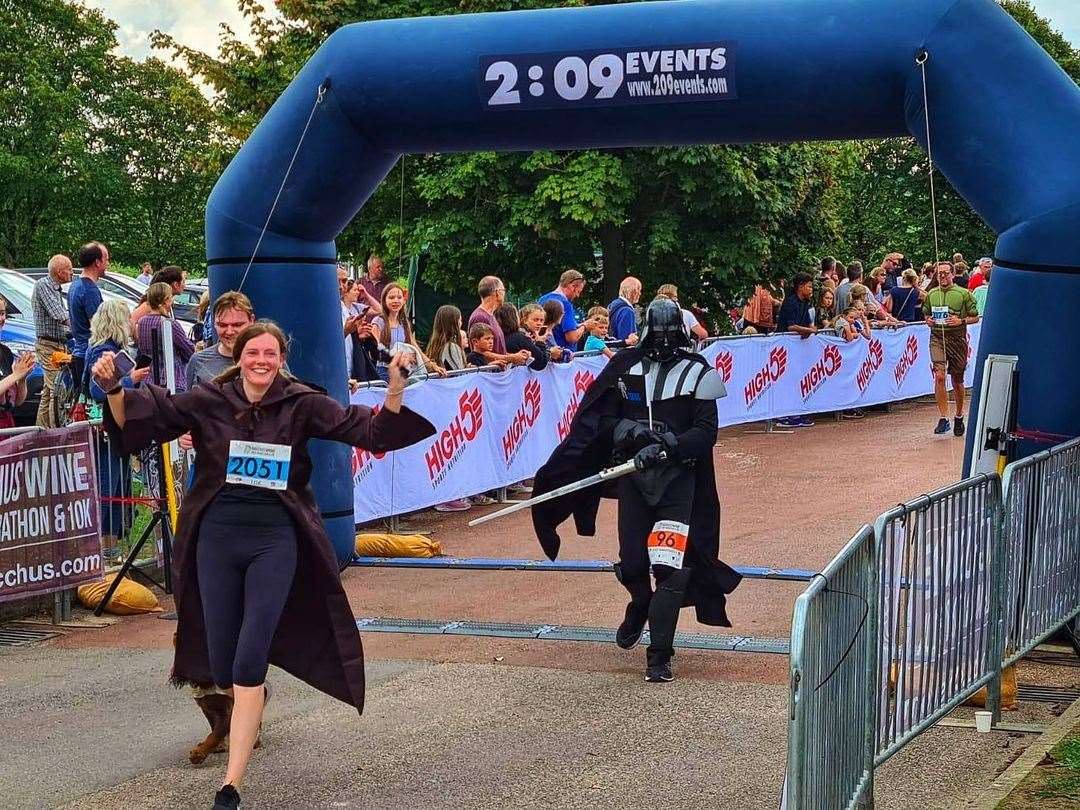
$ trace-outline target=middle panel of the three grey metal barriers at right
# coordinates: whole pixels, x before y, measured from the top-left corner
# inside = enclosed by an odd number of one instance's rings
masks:
[[[980,687],[995,698],[1000,514],[1000,480],[978,475],[877,521],[879,764]]]

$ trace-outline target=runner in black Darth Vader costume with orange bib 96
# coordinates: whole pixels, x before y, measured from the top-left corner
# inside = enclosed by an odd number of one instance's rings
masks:
[[[532,526],[555,559],[561,523],[572,514],[578,534],[593,536],[599,499],[619,499],[616,576],[631,600],[616,642],[630,649],[648,622],[645,679],[665,681],[679,609],[693,606],[698,621],[731,626],[726,595],[741,576],[718,559],[712,450],[724,382],[689,350],[675,302],[654,300],[645,320],[640,342],[616,354],[585,392],[566,438],[537,472],[534,495],[631,458],[637,472],[534,507]]]

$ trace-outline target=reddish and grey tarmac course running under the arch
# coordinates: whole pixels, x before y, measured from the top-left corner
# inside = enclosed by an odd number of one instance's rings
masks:
[[[721,432],[715,448],[729,563],[819,568],[863,522],[956,478],[962,443],[930,434],[932,406],[795,435]],[[476,529],[427,512],[455,556],[540,556],[527,514]],[[564,551],[610,558],[613,504],[595,538]],[[357,617],[490,619],[615,626],[610,575],[350,569]],[[785,638],[799,583],[745,582],[739,635]],[[164,604],[167,606],[168,600]],[[680,630],[696,625],[689,612]],[[187,751],[205,733],[188,693],[164,685],[173,623],[125,617],[0,652],[0,806],[210,807],[224,756]],[[783,780],[787,661],[679,651],[678,679],[642,683],[644,651],[613,645],[364,635],[363,717],[272,671],[273,699],[244,808],[775,808]],[[939,728],[880,771],[879,807],[959,807],[1024,744]]]

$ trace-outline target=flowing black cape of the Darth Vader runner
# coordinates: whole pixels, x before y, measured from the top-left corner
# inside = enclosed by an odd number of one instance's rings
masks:
[[[612,436],[610,431],[602,428],[606,414],[598,403],[643,356],[644,350],[637,348],[620,351],[589,387],[566,438],[537,471],[534,497],[594,475],[610,463]],[[693,469],[693,512],[686,563],[692,567],[692,573],[684,606],[692,605],[702,624],[729,627],[731,622],[727,617],[725,595],[735,590],[742,576],[719,559],[720,502],[716,496],[712,453],[698,457]],[[549,559],[558,556],[562,541],[556,528],[570,515],[573,515],[579,535],[595,536],[596,512],[602,497],[617,497],[613,482],[579,489],[532,508],[532,528]]]

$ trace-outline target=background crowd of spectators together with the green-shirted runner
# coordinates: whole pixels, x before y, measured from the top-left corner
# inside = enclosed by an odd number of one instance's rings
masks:
[[[98,402],[105,394],[91,383],[89,369],[106,351],[127,351],[137,359],[123,379],[125,386],[167,381],[183,391],[231,368],[237,337],[256,320],[246,295],[228,292],[211,301],[204,293],[198,321],[186,330],[173,308],[174,297],[185,289],[187,281],[179,267],[154,270],[149,262],[144,264],[135,280],[144,293],[129,306],[102,294],[99,282],[109,266],[109,249],[100,242],[83,245],[76,262],[64,255],[50,259],[48,273],[36,282],[31,297],[35,353],[15,356],[0,345],[0,428],[13,423],[12,411],[25,401],[26,378],[36,364],[43,372],[37,423],[54,427],[53,400],[62,368],[58,357],[65,353],[70,354],[71,379],[78,390]],[[337,269],[341,351],[353,390],[364,382],[384,382],[390,357],[399,351],[415,354],[414,374],[445,376],[469,367],[540,370],[550,363],[570,362],[581,352],[611,356],[638,340],[644,289],[634,276],[621,281],[618,295],[606,306],[585,309],[580,303],[586,279],[576,269],[563,272],[553,289],[521,307],[508,300],[500,278],[485,275],[476,285],[476,306],[468,318],[453,305],[440,307],[431,335],[421,346],[407,314],[406,288],[387,275],[379,256],[368,258],[364,269],[361,278],[353,278],[346,265]],[[868,270],[860,260],[842,264],[826,256],[813,272],[762,278],[745,306],[730,312],[731,326],[743,335],[792,333],[807,338],[824,334],[853,341],[870,339],[875,327],[926,322],[931,326],[931,360],[941,410],[935,432],[948,432],[950,427],[945,388],[950,377],[956,391],[951,428],[955,435],[962,435],[967,326],[985,309],[991,271],[989,258],[981,258],[970,268],[959,253],[951,261],[928,261],[919,270],[900,253],[887,253]],[[659,285],[654,297],[679,306],[690,338],[708,336],[707,311],[692,300],[687,306],[676,285]],[[6,302],[0,296],[0,326],[5,310]],[[158,350],[162,341],[168,343],[171,352]],[[158,360],[162,354],[171,356],[171,367]],[[863,414],[856,409],[843,416],[860,418]],[[812,423],[805,417],[781,420],[791,428]],[[118,469],[124,468],[120,464]],[[114,485],[103,482],[103,490]],[[447,510],[470,505],[469,501],[443,504]]]

